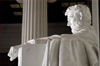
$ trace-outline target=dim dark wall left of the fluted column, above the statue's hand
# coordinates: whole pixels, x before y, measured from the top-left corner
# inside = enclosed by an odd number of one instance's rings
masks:
[[[21,43],[21,24],[0,24],[0,53]]]

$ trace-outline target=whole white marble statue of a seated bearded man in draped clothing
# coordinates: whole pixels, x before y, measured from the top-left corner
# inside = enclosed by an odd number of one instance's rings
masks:
[[[73,34],[52,35],[32,39],[26,44],[46,44],[41,66],[99,66],[98,39],[91,26],[91,14],[86,5],[68,7],[65,12]],[[26,45],[24,44],[24,45]],[[23,45],[12,47],[8,53],[11,60],[17,57],[18,49]],[[14,49],[15,48],[15,49]],[[14,55],[16,50],[16,55]]]

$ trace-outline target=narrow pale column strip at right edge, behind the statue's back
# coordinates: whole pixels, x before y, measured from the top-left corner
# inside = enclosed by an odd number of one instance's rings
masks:
[[[97,34],[99,31],[99,1],[98,0],[92,0],[92,22],[93,27],[96,30]]]

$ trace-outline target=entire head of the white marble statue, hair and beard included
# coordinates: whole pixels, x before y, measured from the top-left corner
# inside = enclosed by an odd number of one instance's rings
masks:
[[[86,5],[78,4],[68,7],[65,16],[68,19],[67,26],[70,26],[72,30],[80,30],[91,24],[90,10]]]

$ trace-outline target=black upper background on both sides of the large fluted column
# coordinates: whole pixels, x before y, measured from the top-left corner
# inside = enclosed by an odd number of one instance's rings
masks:
[[[63,11],[67,7],[62,6],[62,3],[84,2],[91,9],[91,1],[88,0],[58,0],[54,3],[48,3],[48,22],[66,22],[66,17]],[[22,23],[22,15],[16,16],[13,12],[22,12],[22,8],[11,8],[10,4],[19,4],[16,0],[0,0],[0,24]],[[20,4],[19,4],[20,5]]]

